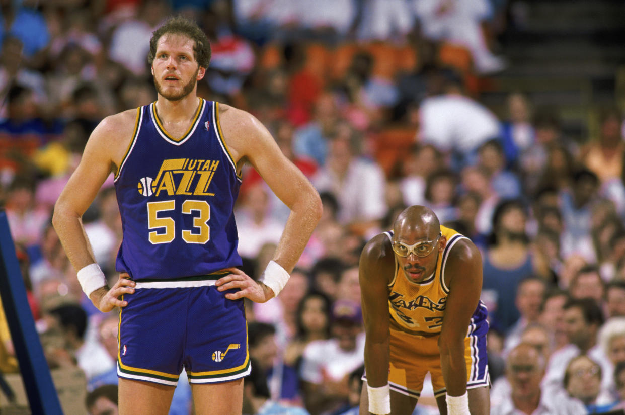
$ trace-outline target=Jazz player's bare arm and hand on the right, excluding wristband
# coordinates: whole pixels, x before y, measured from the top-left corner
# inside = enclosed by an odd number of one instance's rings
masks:
[[[237,166],[242,161],[249,161],[276,196],[291,209],[273,257],[287,272],[291,272],[321,218],[319,194],[304,174],[282,154],[269,131],[251,114],[220,106],[220,117],[224,139]],[[269,298],[273,296],[272,293],[268,295]],[[244,290],[226,295],[231,299],[241,296],[247,296]],[[255,297],[249,298],[258,301]]]

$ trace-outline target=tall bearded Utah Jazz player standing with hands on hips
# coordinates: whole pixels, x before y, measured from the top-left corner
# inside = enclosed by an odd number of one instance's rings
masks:
[[[121,307],[119,413],[166,415],[184,369],[198,415],[241,414],[249,374],[243,297],[284,287],[321,216],[321,201],[256,118],[201,99],[206,35],[182,17],[150,41],[158,100],[104,119],[59,197],[53,223],[84,292],[103,312]],[[259,281],[237,269],[232,207],[250,163],[291,209]],[[114,174],[123,242],[109,287],[81,217]]]

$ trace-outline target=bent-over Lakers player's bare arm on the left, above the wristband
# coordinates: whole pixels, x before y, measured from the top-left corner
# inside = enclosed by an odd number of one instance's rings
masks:
[[[367,384],[386,386],[389,373],[389,304],[387,282],[394,271],[394,255],[384,234],[377,235],[362,250],[359,263],[362,316],[366,339],[364,367]]]

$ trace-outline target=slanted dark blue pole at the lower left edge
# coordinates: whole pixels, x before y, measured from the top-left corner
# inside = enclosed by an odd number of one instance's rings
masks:
[[[0,211],[0,296],[31,412],[63,415],[26,298],[26,287],[4,211]]]

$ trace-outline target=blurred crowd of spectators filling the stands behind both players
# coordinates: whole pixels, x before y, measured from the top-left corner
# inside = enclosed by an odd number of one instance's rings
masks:
[[[623,111],[594,109],[580,140],[557,107],[523,91],[504,114],[484,106],[480,92],[507,66],[497,36],[519,23],[511,3],[0,0],[0,204],[47,362],[83,370],[89,413],[115,413],[103,411],[116,404],[118,314],[84,296],[51,212],[94,126],[156,100],[149,38],[171,14],[211,40],[198,95],[254,114],[324,204],[281,294],[247,304],[245,414],[357,413],[359,254],[412,204],[481,249],[494,413],[541,390],[575,399],[579,413],[623,406]],[[257,277],[288,209],[251,167],[242,174],[239,253]],[[112,176],[83,221],[114,283]],[[19,372],[0,317],[0,372]],[[417,412],[437,413],[427,385],[420,402]],[[183,372],[170,413],[191,407]]]

